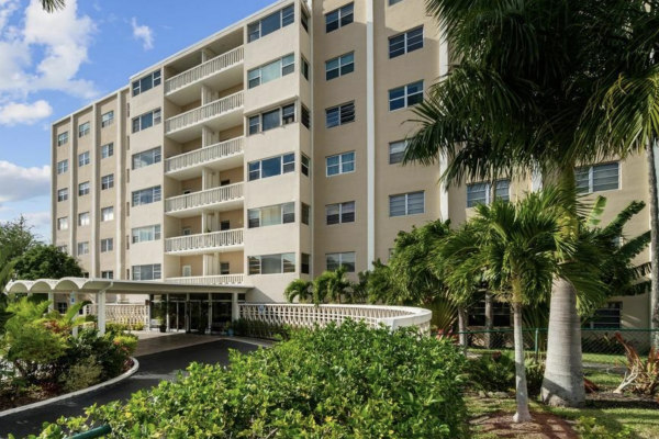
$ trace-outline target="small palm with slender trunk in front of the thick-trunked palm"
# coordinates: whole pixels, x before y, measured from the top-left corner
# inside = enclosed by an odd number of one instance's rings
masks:
[[[479,204],[476,216],[444,247],[447,260],[461,260],[446,279],[463,289],[465,281],[482,278],[491,292],[513,308],[517,413],[514,421],[530,419],[524,368],[522,309],[546,301],[552,279],[560,271],[556,255],[570,252],[570,243],[561,230],[561,192],[545,190],[530,193],[516,203],[494,201]],[[465,237],[463,234],[469,236]],[[466,246],[472,241],[472,246]]]

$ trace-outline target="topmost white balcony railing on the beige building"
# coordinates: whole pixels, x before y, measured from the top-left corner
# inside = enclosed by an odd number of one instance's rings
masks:
[[[224,90],[243,81],[243,47],[194,66],[165,81],[165,95],[177,105],[194,102],[201,94],[202,86]]]

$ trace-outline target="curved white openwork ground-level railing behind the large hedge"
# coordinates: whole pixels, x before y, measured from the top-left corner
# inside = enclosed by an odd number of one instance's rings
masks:
[[[348,318],[366,322],[369,326],[384,325],[391,329],[416,326],[429,334],[429,309],[409,306],[380,305],[313,305],[299,303],[244,303],[239,304],[241,318],[297,327],[325,326]]]

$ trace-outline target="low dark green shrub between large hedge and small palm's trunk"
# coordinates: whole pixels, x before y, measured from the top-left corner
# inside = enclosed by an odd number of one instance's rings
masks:
[[[515,386],[515,361],[501,352],[469,360],[469,382],[485,392],[506,392]]]

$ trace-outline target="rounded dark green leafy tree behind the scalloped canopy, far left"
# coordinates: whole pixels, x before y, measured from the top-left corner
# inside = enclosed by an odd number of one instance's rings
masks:
[[[25,251],[15,263],[15,275],[19,279],[60,279],[81,277],[82,269],[78,261],[55,246],[36,245]]]

